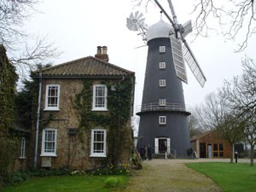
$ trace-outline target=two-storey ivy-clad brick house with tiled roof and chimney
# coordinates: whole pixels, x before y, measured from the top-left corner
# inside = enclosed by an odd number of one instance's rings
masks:
[[[35,167],[130,163],[135,73],[110,64],[107,47],[97,47],[95,57],[44,68],[41,76],[34,72],[32,79],[42,85],[40,118],[32,125]]]

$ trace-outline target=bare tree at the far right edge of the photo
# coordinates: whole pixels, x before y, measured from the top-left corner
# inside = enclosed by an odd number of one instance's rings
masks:
[[[243,73],[241,77],[234,77],[231,81],[225,81],[220,95],[230,108],[236,111],[238,118],[246,123],[244,136],[251,146],[250,157],[253,166],[253,152],[256,144],[256,65],[248,57],[242,61]]]

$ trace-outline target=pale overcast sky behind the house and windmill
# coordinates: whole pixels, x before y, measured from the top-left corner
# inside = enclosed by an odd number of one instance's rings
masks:
[[[146,1],[146,0],[145,0]],[[164,4],[166,0],[160,0]],[[189,19],[193,6],[189,0],[173,0],[174,9],[179,23]],[[61,64],[84,56],[96,54],[97,46],[108,46],[109,62],[124,67],[136,73],[135,105],[141,105],[143,79],[148,47],[135,49],[144,45],[137,32],[131,32],[125,26],[126,17],[131,11],[140,9],[149,26],[160,20],[160,9],[149,4],[148,12],[144,7],[134,9],[131,0],[49,0],[38,5],[38,13],[27,22],[26,30],[40,36],[48,36],[49,42],[63,53],[54,60]],[[169,11],[168,7],[165,7]],[[165,17],[163,16],[164,20]],[[166,20],[167,21],[167,20]],[[241,59],[248,55],[255,60],[255,37],[250,39],[247,49],[234,53],[236,44],[225,41],[221,36],[211,35],[210,38],[196,38],[187,41],[193,50],[197,61],[207,77],[207,83],[201,88],[189,71],[189,84],[183,84],[186,104],[192,108],[204,101],[211,91],[221,87],[224,79],[231,79],[241,74]],[[254,50],[254,55],[253,55]]]

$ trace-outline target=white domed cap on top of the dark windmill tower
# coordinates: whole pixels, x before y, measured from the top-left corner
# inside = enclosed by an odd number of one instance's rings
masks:
[[[160,19],[157,23],[148,27],[147,41],[153,38],[170,38],[170,34],[174,32],[173,27]]]

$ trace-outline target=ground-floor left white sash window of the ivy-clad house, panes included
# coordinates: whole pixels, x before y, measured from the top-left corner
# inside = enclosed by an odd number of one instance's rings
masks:
[[[41,156],[57,156],[57,130],[46,128],[42,135],[42,151]]]

